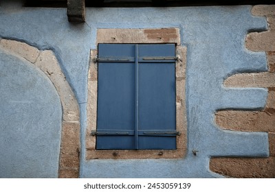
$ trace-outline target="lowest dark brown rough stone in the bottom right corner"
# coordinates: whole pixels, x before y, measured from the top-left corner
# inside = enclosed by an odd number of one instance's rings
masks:
[[[232,178],[275,178],[275,157],[211,158],[210,170]]]

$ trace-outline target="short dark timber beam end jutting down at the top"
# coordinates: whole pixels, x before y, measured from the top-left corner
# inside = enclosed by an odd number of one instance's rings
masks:
[[[69,22],[85,22],[85,0],[67,0]]]

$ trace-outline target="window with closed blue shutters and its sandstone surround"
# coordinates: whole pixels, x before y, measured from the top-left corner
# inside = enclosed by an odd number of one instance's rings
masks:
[[[88,77],[86,160],[186,154],[186,47],[179,29],[98,29]]]

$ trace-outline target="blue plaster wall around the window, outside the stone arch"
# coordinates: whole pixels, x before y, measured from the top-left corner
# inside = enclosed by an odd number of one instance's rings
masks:
[[[265,106],[267,99],[265,88],[225,88],[223,86],[223,80],[234,73],[267,70],[264,52],[245,49],[245,36],[248,32],[263,31],[267,28],[263,17],[251,15],[251,6],[87,8],[86,23],[72,24],[67,22],[67,10],[63,8],[13,8],[7,1],[4,2],[0,7],[0,37],[21,40],[39,49],[52,49],[76,94],[80,106],[82,143],[80,177],[221,177],[209,170],[211,156],[265,157],[269,155],[267,133],[221,130],[214,123],[214,112],[219,109],[256,110]],[[96,48],[96,30],[154,27],[178,27],[181,44],[187,47],[188,152],[186,157],[173,160],[86,161],[87,74],[90,50]],[[2,66],[5,61],[1,58],[0,63],[3,71]],[[17,67],[14,66],[10,70],[16,69]],[[1,82],[2,84],[5,85]],[[42,96],[41,92],[35,90],[34,92]],[[12,92],[8,91],[5,95],[12,95]],[[9,108],[3,99],[1,99],[1,113],[2,106]],[[17,110],[24,112],[23,108],[17,108]],[[8,118],[2,121],[8,124],[8,127],[12,126]],[[41,125],[37,127],[41,128]],[[28,132],[23,134],[28,136]],[[1,154],[12,153],[12,150],[0,149]],[[192,150],[197,151],[196,156]],[[22,151],[28,151],[28,148],[23,147]],[[1,165],[3,165],[2,159],[0,158]],[[52,163],[55,163],[54,160]],[[2,174],[2,177],[7,175],[5,172]],[[36,176],[39,177],[39,175]]]

